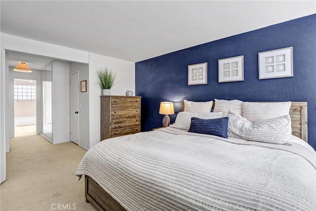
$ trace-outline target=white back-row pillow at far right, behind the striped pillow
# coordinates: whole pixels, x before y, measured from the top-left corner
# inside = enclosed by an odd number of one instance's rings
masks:
[[[268,120],[279,116],[288,115],[291,102],[277,103],[242,103],[242,117],[255,123],[261,120]]]

